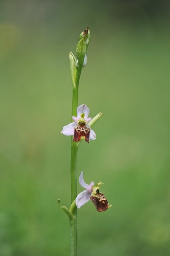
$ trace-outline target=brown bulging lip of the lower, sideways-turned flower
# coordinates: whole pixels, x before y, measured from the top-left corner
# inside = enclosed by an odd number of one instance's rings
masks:
[[[98,212],[106,211],[109,207],[107,198],[104,196],[103,193],[100,193],[98,189],[96,192],[97,194],[95,196],[91,196],[90,200],[92,200]]]

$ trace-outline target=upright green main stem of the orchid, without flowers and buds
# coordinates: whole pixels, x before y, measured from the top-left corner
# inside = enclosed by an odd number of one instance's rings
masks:
[[[76,68],[75,71],[75,86],[73,86],[73,100],[72,100],[72,116],[77,116],[78,106],[78,85],[80,80],[81,68]],[[72,202],[77,197],[77,142],[71,141],[71,200]],[[71,256],[77,256],[77,207],[73,210],[75,219],[70,220],[71,228]]]

